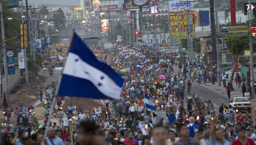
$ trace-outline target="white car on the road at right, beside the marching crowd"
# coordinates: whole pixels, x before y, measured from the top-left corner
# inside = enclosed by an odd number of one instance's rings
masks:
[[[230,101],[230,105],[234,109],[238,109],[238,111],[248,111],[249,113],[252,111],[252,106],[249,100],[245,97],[237,97],[233,98]]]

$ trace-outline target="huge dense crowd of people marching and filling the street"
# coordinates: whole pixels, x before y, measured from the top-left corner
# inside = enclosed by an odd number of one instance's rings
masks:
[[[60,49],[55,48],[59,45]],[[55,44],[51,47],[56,51],[50,52],[59,55],[61,48],[67,46]],[[1,144],[255,145],[256,126],[248,112],[242,114],[223,102],[215,109],[211,100],[202,100],[191,93],[195,77],[202,78],[204,83],[207,78],[210,78],[210,82],[216,81],[215,68],[209,69],[200,62],[189,64],[184,59],[163,55],[159,59],[178,67],[177,71],[171,71],[163,67],[158,69],[158,65],[150,62],[140,64],[144,58],[121,55],[116,48],[103,50],[99,45],[93,47],[92,51],[100,61],[106,62],[124,77],[120,99],[106,99],[105,111],[96,113],[91,110],[88,114],[83,106],[72,105],[64,112],[61,100],[65,100],[66,96],[56,96],[58,109],[54,116],[58,120],[52,123],[49,119],[49,101],[44,105],[44,124],[26,122],[27,116],[23,114],[23,109],[25,112],[28,109],[21,106],[19,116],[15,114],[19,118],[16,126],[2,124]],[[50,65],[49,61],[54,62],[49,57],[45,60],[45,65]],[[137,65],[143,67],[138,68]],[[152,65],[153,69],[150,68]],[[48,100],[54,97],[48,93],[49,88],[45,90]],[[158,112],[164,114],[159,120],[156,119],[160,117]]]

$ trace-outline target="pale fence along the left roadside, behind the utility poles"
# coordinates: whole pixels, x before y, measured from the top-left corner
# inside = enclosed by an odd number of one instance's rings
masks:
[[[15,84],[20,80],[20,69],[15,69],[14,75],[8,75],[9,80],[9,90],[15,86]],[[0,89],[0,95],[4,94],[5,92],[5,78],[3,77],[1,79],[2,82],[2,88]]]

